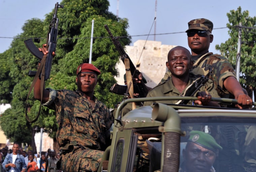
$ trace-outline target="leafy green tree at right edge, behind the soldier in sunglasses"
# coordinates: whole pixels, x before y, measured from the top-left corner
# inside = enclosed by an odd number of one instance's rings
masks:
[[[220,50],[221,55],[227,57],[233,67],[236,64],[237,56],[237,42],[238,42],[238,25],[242,23],[242,45],[241,45],[241,60],[240,60],[240,78],[239,81],[242,86],[246,89],[249,96],[252,97],[252,93],[256,94],[256,16],[250,17],[249,11],[243,11],[242,8],[238,7],[237,10],[230,10],[227,13],[229,23],[230,38],[221,45],[216,45],[216,49]],[[254,27],[254,28],[253,28]],[[256,97],[254,95],[254,97]]]

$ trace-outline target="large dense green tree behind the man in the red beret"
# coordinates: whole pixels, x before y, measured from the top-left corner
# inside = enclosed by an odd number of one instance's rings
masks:
[[[94,94],[109,108],[114,108],[122,98],[109,92],[111,85],[116,82],[114,76],[118,75],[115,65],[119,55],[108,37],[104,24],[107,24],[115,35],[127,36],[119,41],[122,45],[128,45],[131,41],[126,31],[127,19],[117,18],[109,12],[107,0],[63,0],[60,4],[64,5],[64,9],[58,9],[57,13],[59,39],[51,75],[45,83],[46,88],[77,89],[76,68],[81,63],[89,63],[91,27],[94,20],[92,64],[101,71]],[[33,80],[27,73],[28,70],[37,69],[38,59],[26,49],[24,39],[18,39],[34,38],[35,45],[41,47],[46,42],[46,33],[52,16],[53,11],[47,14],[43,21],[35,18],[28,20],[22,27],[23,33],[12,41],[11,48],[0,54],[0,98],[11,104],[11,108],[2,114],[0,124],[6,136],[12,141],[29,143],[33,141],[34,131],[41,127],[51,137],[55,138],[56,135],[58,126],[53,110],[42,107],[39,119],[35,123],[28,123],[25,119],[26,99]],[[29,96],[27,106],[29,118],[35,118],[40,102],[34,100],[33,93]],[[34,143],[30,145],[33,147]],[[35,146],[33,150],[35,151]]]

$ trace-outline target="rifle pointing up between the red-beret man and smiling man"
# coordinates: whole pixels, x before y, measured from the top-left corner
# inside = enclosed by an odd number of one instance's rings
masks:
[[[135,66],[134,66],[134,64],[132,63],[130,57],[129,57],[128,54],[126,54],[126,52],[124,51],[124,48],[122,47],[122,45],[121,45],[120,42],[118,41],[119,37],[116,37],[116,38],[115,38],[115,37],[111,34],[111,32],[110,32],[110,30],[109,30],[109,28],[108,28],[108,26],[107,26],[106,24],[104,25],[104,27],[105,27],[105,29],[107,30],[107,33],[109,34],[109,36],[110,36],[110,38],[111,38],[113,44],[115,45],[115,47],[116,47],[116,49],[117,49],[119,55],[121,56],[121,60],[122,60],[123,63],[124,63],[125,59],[129,59],[131,74],[132,74],[133,78],[138,78],[138,75],[140,74],[140,71],[135,68]],[[112,89],[114,90],[113,87],[116,87],[116,86],[117,86],[117,85],[113,85],[113,86],[112,86]],[[121,86],[122,86],[122,85],[119,85],[119,87],[121,87]],[[126,87],[127,87],[127,86],[126,86]],[[140,81],[140,83],[134,83],[134,84],[133,84],[133,88],[134,88],[134,93],[137,93],[137,92],[135,92],[135,91],[138,90],[138,94],[139,94],[138,97],[146,97],[147,94],[148,94],[148,89],[147,89],[145,83],[144,83],[142,80]],[[120,89],[120,88],[119,88],[119,91],[120,91],[120,90],[125,90],[125,89]],[[118,93],[118,94],[122,94],[122,93]],[[125,94],[125,93],[123,93],[122,95],[124,95],[124,94]]]

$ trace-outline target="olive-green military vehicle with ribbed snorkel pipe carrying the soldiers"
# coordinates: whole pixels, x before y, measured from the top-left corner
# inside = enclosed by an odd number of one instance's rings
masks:
[[[127,99],[115,114],[112,142],[103,156],[100,171],[179,171],[182,152],[193,130],[211,134],[223,148],[216,153],[216,172],[256,171],[256,111],[156,103],[121,116],[131,102],[196,100],[195,97]],[[213,98],[221,104],[234,99]],[[255,105],[255,103],[253,103]],[[193,170],[191,170],[193,171]]]

